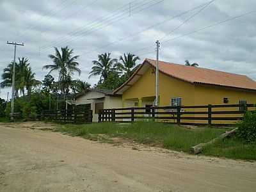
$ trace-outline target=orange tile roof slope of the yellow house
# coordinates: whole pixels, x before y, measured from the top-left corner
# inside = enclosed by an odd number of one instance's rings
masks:
[[[146,59],[149,64],[156,67],[156,60]],[[201,67],[189,67],[175,63],[159,61],[159,71],[168,76],[188,81],[190,83],[213,84],[256,90],[256,82],[247,76],[221,72]]]

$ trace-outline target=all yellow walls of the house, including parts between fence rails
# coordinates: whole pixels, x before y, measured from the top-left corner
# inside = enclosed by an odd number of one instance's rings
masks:
[[[139,107],[145,107],[154,101],[156,90],[156,76],[154,68],[148,68],[147,72],[132,84],[122,95],[123,107],[134,107],[138,102]],[[247,103],[256,103],[255,92],[245,92],[220,86],[202,86],[199,84],[187,83],[159,72],[159,106],[170,106],[172,97],[181,97],[182,106],[224,104],[223,97],[227,97],[228,104],[239,104],[239,100],[245,99]],[[150,100],[151,99],[151,100]],[[183,109],[184,111],[207,111],[207,109]],[[214,108],[212,111],[237,111],[238,108]],[[195,115],[184,115],[195,116]],[[205,115],[196,115],[205,116]],[[223,116],[223,115],[212,115]],[[225,115],[241,116],[241,115]],[[173,121],[173,120],[172,120]],[[182,120],[190,123],[207,123],[205,120]],[[212,123],[230,124],[234,122],[215,121]]]

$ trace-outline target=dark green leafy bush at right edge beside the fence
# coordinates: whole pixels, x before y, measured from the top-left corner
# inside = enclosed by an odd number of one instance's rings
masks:
[[[246,142],[256,141],[256,111],[247,111],[244,114],[243,121],[238,124],[237,136]]]

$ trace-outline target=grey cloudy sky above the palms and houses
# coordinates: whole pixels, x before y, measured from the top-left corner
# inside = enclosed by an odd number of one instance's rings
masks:
[[[88,72],[98,54],[132,52],[142,62],[156,58],[159,39],[160,60],[256,80],[255,11],[253,0],[1,0],[0,72],[13,60],[6,41],[24,42],[17,57],[29,58],[38,79],[47,74],[42,67],[51,63],[53,47],[68,45],[80,56],[82,74],[75,78],[95,84],[99,77],[88,79]]]

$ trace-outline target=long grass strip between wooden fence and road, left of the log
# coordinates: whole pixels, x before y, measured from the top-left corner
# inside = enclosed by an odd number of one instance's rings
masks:
[[[186,129],[177,125],[154,122],[138,122],[129,125],[102,123],[86,125],[62,125],[56,131],[67,132],[73,136],[95,139],[95,134],[111,137],[130,138],[139,143],[163,143],[164,148],[189,152],[198,143],[216,138],[225,129],[200,128]],[[94,138],[93,138],[94,137]]]

